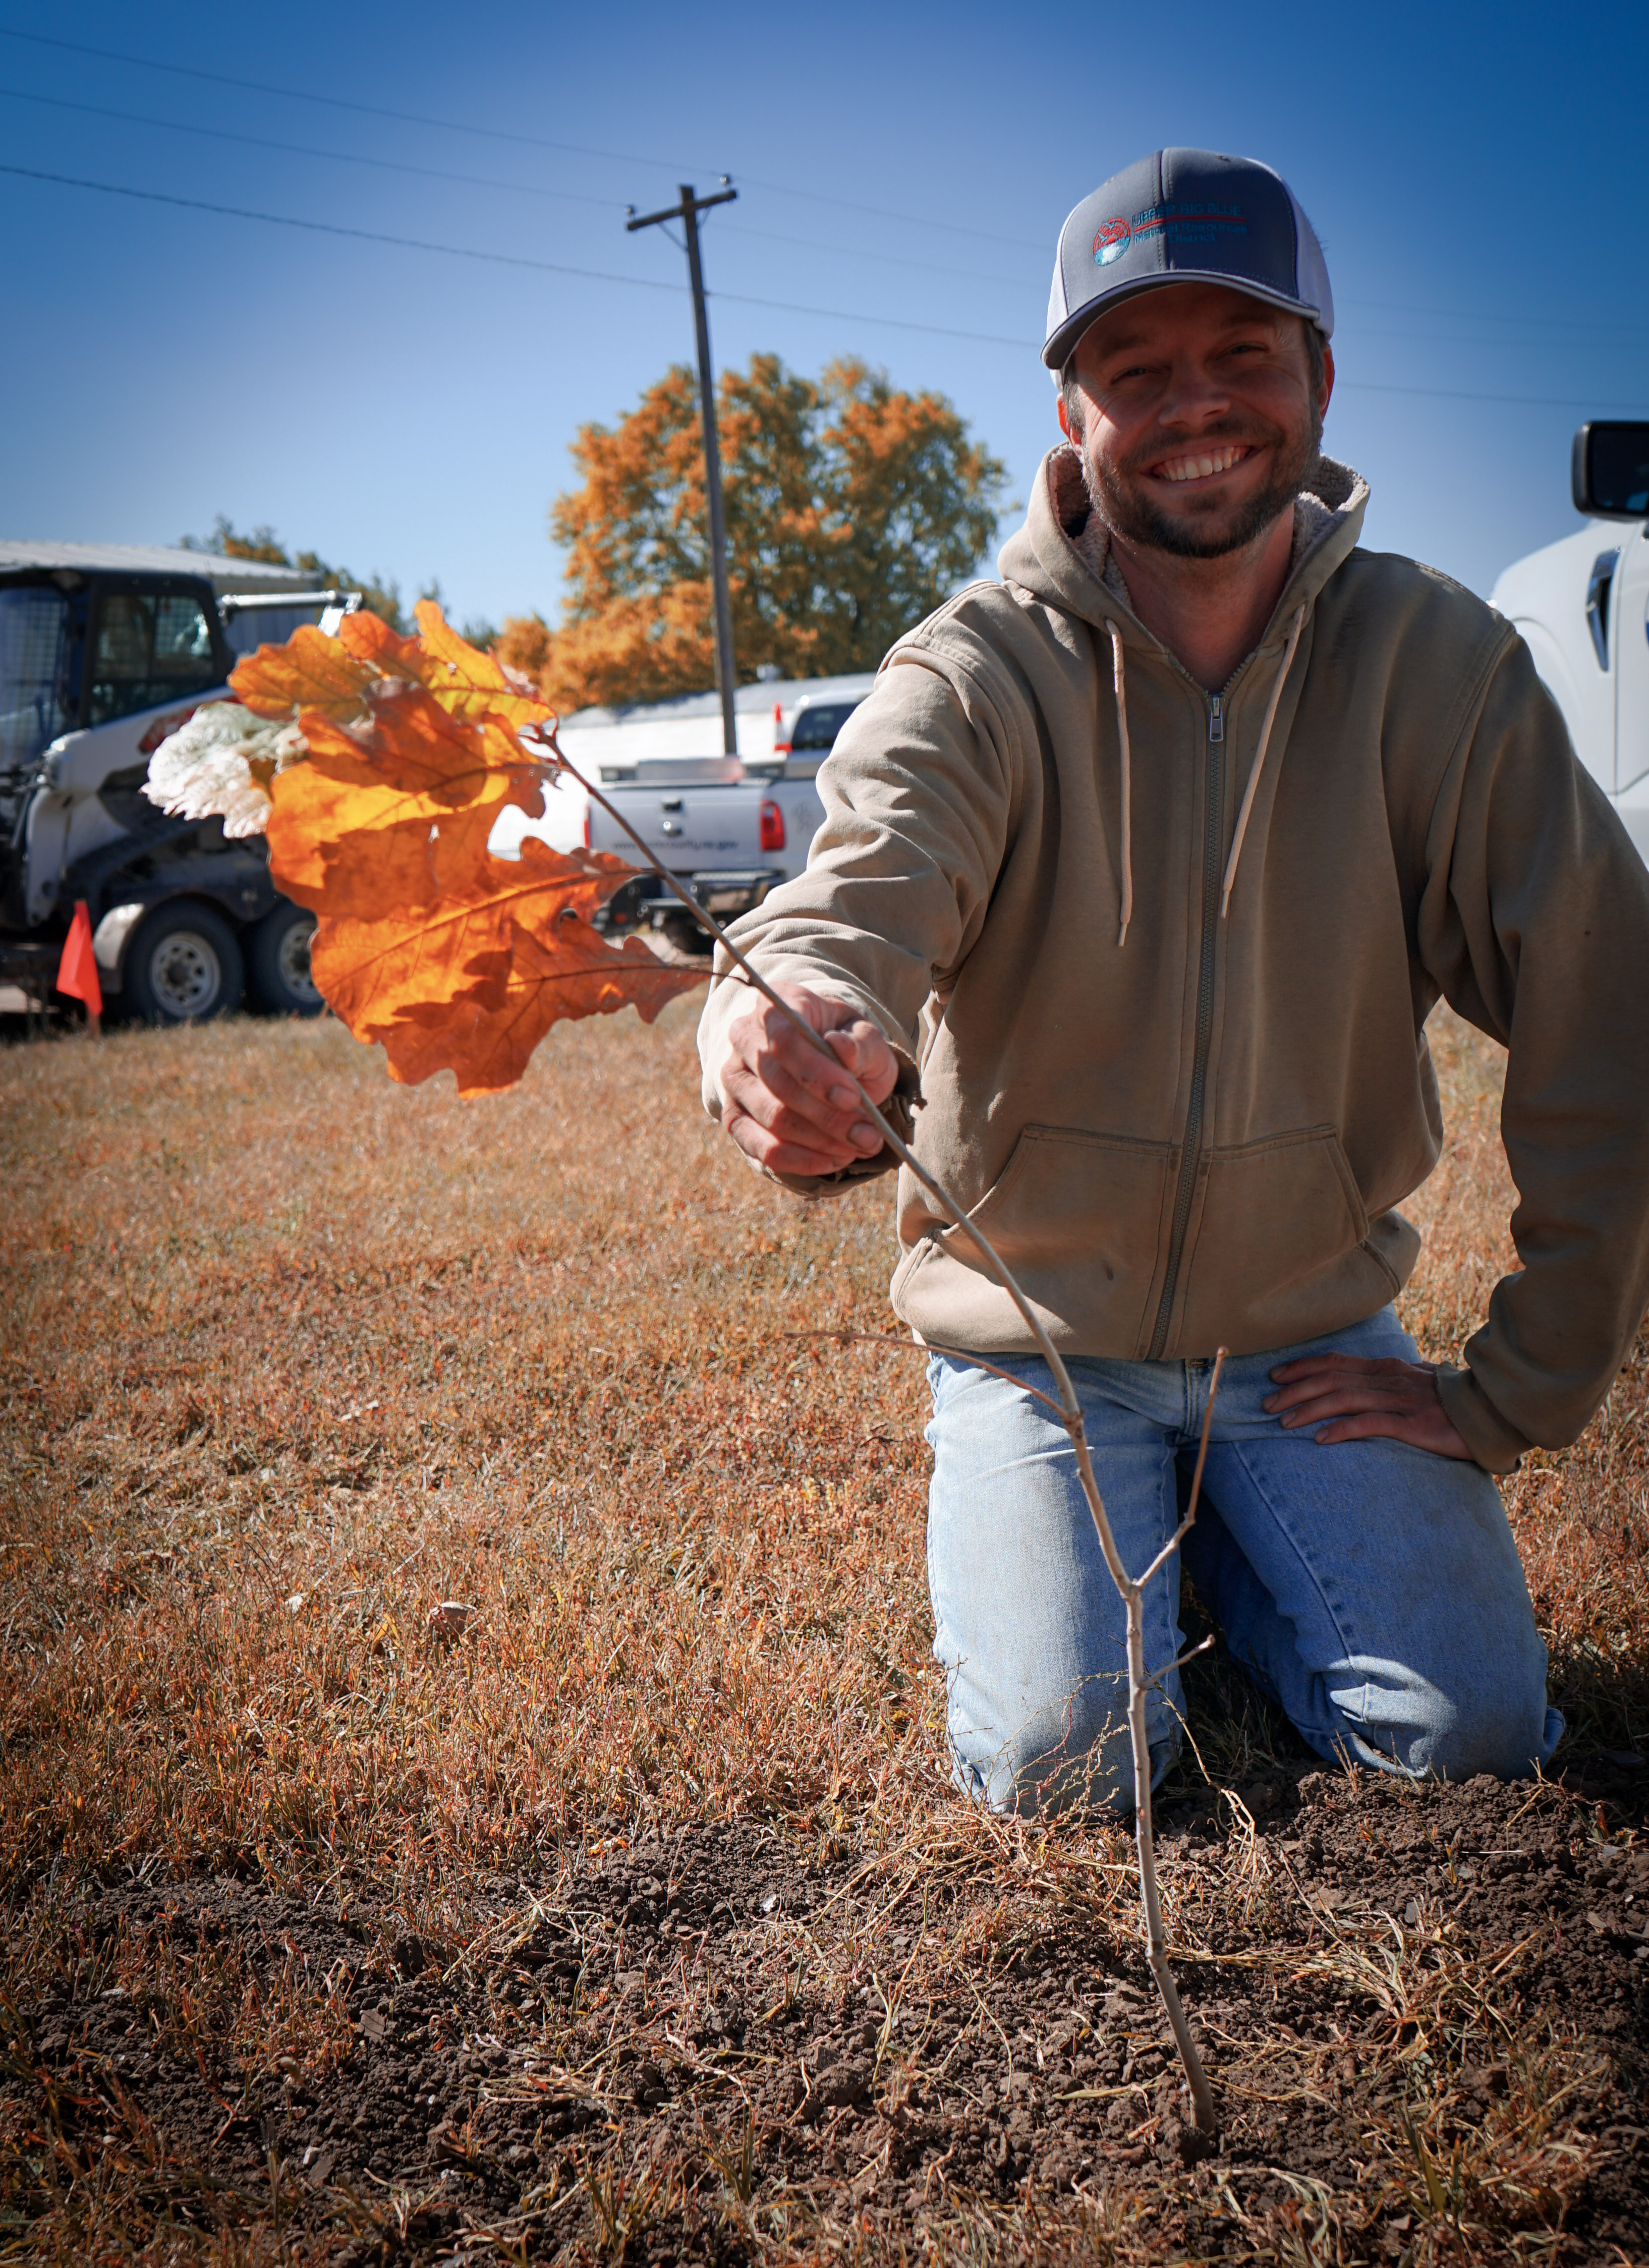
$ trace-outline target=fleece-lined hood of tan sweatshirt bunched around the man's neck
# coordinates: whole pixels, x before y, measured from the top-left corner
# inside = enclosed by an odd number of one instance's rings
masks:
[[[1352,553],[1368,510],[1368,481],[1350,465],[1320,456],[1309,488],[1295,499],[1295,547],[1277,608],[1257,651],[1263,651],[1286,626],[1295,608],[1311,608],[1336,567]],[[1116,569],[1105,574],[1107,538],[1091,526],[1093,506],[1082,479],[1082,458],[1062,442],[1037,469],[1025,524],[1009,535],[998,558],[1005,583],[1016,583],[1048,606],[1066,608],[1082,621],[1116,621],[1127,646],[1166,655],[1161,640],[1143,626],[1127,603]]]

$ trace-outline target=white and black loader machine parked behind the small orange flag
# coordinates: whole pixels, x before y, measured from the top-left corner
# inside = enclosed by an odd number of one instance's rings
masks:
[[[215,572],[213,572],[215,569]],[[188,551],[0,542],[0,1009],[50,996],[84,903],[104,1005],[175,1023],[252,996],[322,1005],[313,916],[281,898],[263,839],[168,816],[150,758],[202,701],[227,699],[243,651],[356,594]]]

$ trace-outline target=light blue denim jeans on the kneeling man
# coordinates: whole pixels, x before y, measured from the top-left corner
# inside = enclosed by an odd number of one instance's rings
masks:
[[[1327,1349],[1415,1359],[1384,1309],[1227,1361],[1184,1565],[1232,1656],[1318,1755],[1409,1778],[1520,1778],[1547,1762],[1563,1717],[1547,1708],[1547,1649],[1499,1490],[1479,1465],[1406,1442],[1286,1433],[1261,1408],[1270,1370]],[[1039,1359],[1000,1368],[1052,1390]],[[1175,1531],[1214,1365],[1068,1368],[1123,1565],[1145,1567]],[[959,1356],[930,1356],[928,1383],[928,1588],[957,1787],[1021,1814],[1132,1808],[1123,1601],[1071,1438],[1041,1402]],[[1168,1560],[1145,1601],[1148,1672],[1182,1649]],[[1145,1719],[1157,1780],[1182,1706],[1166,1669]]]

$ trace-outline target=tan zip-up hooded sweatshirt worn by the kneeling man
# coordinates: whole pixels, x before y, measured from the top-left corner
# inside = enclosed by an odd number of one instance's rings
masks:
[[[1511,1048],[1522,1268],[1440,1377],[1506,1472],[1574,1440],[1649,1297],[1649,873],[1508,624],[1359,551],[1352,472],[1313,485],[1259,649],[1204,694],[1055,449],[1003,581],[894,646],[807,871],[733,934],[882,1027],[916,1154],[1077,1356],[1252,1354],[1399,1293],[1447,998]],[[712,1116],[746,1002],[724,978],[703,1012]],[[907,1173],[898,1241],[916,1336],[1028,1349]]]

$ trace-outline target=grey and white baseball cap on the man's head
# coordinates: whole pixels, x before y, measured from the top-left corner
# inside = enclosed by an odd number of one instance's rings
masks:
[[[1157,284],[1229,284],[1334,336],[1316,229],[1252,156],[1157,150],[1084,197],[1059,229],[1043,363],[1059,370],[1107,306]]]

